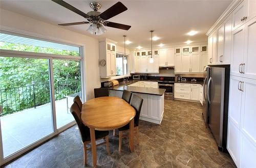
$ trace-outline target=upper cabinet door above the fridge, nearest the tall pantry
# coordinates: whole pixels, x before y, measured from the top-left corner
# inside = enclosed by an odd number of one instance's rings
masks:
[[[231,58],[231,37],[232,37],[232,18],[229,16],[223,23],[224,26],[224,54],[222,64],[230,64]]]

